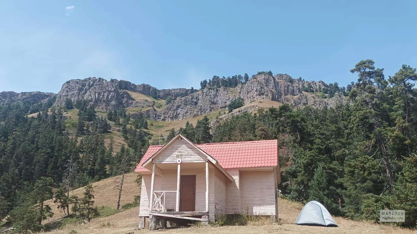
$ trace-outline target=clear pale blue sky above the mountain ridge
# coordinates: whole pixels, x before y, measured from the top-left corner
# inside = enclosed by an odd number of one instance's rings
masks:
[[[158,89],[263,70],[347,85],[363,59],[417,66],[417,1],[5,0],[0,91],[103,77]]]

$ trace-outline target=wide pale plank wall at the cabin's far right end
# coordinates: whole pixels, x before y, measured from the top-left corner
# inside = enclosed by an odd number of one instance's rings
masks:
[[[275,215],[275,174],[240,172],[241,212],[250,215]]]

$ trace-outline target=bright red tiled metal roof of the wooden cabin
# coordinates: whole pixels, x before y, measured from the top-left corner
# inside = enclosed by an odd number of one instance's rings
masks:
[[[196,144],[224,169],[278,166],[278,140]],[[149,172],[141,165],[163,145],[151,145],[135,172]]]

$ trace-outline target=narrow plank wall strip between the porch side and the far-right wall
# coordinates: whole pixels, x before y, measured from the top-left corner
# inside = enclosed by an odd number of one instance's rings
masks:
[[[241,210],[241,199],[240,199],[240,188],[239,188],[239,170],[227,170],[234,182],[228,181],[226,183],[226,204],[227,214],[240,214]]]

